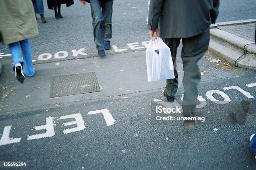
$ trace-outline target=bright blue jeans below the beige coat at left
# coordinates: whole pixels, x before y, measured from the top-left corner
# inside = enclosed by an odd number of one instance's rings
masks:
[[[20,56],[20,47],[23,53],[23,58]],[[16,43],[9,44],[10,53],[13,58],[13,71],[16,63],[21,63],[23,72],[28,77],[32,77],[35,74],[35,69],[32,63],[32,54],[29,39],[25,39]]]

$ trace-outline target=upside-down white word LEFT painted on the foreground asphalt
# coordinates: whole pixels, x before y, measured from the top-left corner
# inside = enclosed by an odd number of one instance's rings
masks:
[[[88,112],[87,115],[91,115],[91,114],[102,114],[104,119],[105,119],[105,122],[106,122],[107,126],[111,126],[115,123],[115,119],[112,117],[112,115],[110,114],[108,109],[101,109],[101,110],[91,111],[91,112]],[[81,113],[61,116],[57,120],[64,120],[64,119],[74,119],[74,121],[65,122],[65,123],[62,124],[63,126],[76,125],[76,127],[64,129],[63,134],[77,132],[77,131],[81,131],[81,130],[85,129],[84,120],[83,120],[83,117],[82,117]],[[11,129],[12,129],[12,125],[4,127],[3,134],[2,134],[2,137],[0,139],[0,146],[20,142],[21,137],[15,137],[15,138],[10,137]],[[46,118],[46,124],[41,125],[41,126],[35,126],[34,129],[36,131],[44,130],[45,132],[40,133],[40,134],[33,134],[33,135],[28,134],[27,140],[36,140],[36,139],[40,139],[40,138],[44,138],[44,137],[53,137],[55,135],[54,118],[53,117],[47,117]]]

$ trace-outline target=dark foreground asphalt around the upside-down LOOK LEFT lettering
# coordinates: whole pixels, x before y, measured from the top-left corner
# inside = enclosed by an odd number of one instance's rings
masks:
[[[249,74],[239,77],[240,82],[237,78],[203,82],[199,87],[199,95],[206,98],[205,92],[208,90],[222,90],[225,86],[236,84],[255,96],[255,87],[245,86],[255,80],[255,76]],[[186,130],[181,125],[154,125],[150,121],[151,101],[165,101],[160,91],[59,104],[48,106],[49,109],[34,108],[32,112],[2,116],[0,133],[3,134],[5,126],[12,125],[10,138],[20,137],[21,140],[0,146],[1,160],[26,161],[28,167],[33,169],[256,168],[248,148],[248,137],[255,132],[255,125],[228,122],[220,125],[215,116],[211,117],[215,124],[197,123],[194,131]],[[244,100],[255,102],[255,98],[247,99],[238,91],[227,94],[237,103]],[[181,95],[182,88],[179,88],[179,103]],[[227,104],[214,104],[209,99],[207,103],[202,111],[208,111],[210,115],[229,112]],[[100,109],[108,109],[115,119],[113,125],[107,126],[102,114],[88,114]],[[77,127],[64,124],[74,121],[74,118],[60,119],[71,114],[82,115],[84,128],[64,134],[65,129]],[[33,127],[46,124],[47,117],[53,118],[55,134],[28,140],[28,135],[45,132],[36,131]]]

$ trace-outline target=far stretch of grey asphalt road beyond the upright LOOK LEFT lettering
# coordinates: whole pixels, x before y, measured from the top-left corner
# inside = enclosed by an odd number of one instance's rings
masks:
[[[47,8],[47,3],[44,0],[47,23],[43,24],[38,19],[39,35],[31,38],[34,63],[97,56],[92,36],[90,5],[82,6],[78,0],[74,0],[74,2],[74,5],[68,8],[65,5],[61,5],[64,18],[56,20],[54,18],[54,11]],[[220,15],[217,22],[256,18],[255,9],[256,4],[254,0],[221,1]],[[128,43],[138,43],[138,46],[143,48],[141,42],[149,41],[146,22],[147,13],[147,0],[130,0],[128,2],[125,0],[115,0],[113,5],[113,38],[111,44],[117,46],[118,49],[126,48],[127,51],[124,52],[135,51],[128,47]],[[87,53],[86,56],[81,54],[73,55],[72,50],[79,50],[81,48],[84,48],[83,52]],[[54,57],[59,51],[66,51],[66,54],[59,54],[59,56],[66,55],[66,57]],[[0,52],[10,53],[8,46],[3,46],[2,44],[0,44]],[[50,54],[51,58],[47,60],[38,59],[38,56],[44,53]],[[113,48],[107,52],[107,54],[113,53],[116,53]],[[44,56],[44,58],[47,57]],[[1,58],[0,62],[3,63],[5,60],[7,60],[7,63],[10,63],[10,56]]]

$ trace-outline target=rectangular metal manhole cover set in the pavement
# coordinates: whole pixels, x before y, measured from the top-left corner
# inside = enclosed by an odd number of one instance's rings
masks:
[[[50,98],[100,91],[95,72],[52,77]]]

